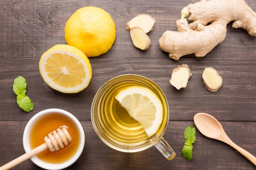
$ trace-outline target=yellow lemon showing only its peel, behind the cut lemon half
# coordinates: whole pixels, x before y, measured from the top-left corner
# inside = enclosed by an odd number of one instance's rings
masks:
[[[83,7],[75,11],[65,24],[68,45],[96,57],[110,50],[116,37],[115,22],[99,7]]]

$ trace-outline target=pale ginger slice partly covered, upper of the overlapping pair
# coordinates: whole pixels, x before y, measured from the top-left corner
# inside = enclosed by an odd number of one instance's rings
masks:
[[[127,22],[126,29],[130,31],[130,29],[133,27],[139,27],[143,29],[145,33],[148,33],[153,29],[154,24],[155,18],[151,17],[148,14],[140,14]]]

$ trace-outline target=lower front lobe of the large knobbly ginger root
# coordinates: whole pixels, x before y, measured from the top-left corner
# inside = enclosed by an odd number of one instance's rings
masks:
[[[179,60],[186,54],[204,57],[226,37],[226,25],[222,21],[212,22],[209,26],[198,24],[192,30],[186,19],[176,22],[178,31],[165,31],[159,39],[160,48],[169,53],[169,57]]]

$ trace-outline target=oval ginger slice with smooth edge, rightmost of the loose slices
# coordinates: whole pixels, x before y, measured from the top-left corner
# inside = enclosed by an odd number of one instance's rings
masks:
[[[205,87],[210,92],[217,92],[217,90],[222,86],[222,77],[214,68],[205,68],[202,74],[202,78],[204,80]]]

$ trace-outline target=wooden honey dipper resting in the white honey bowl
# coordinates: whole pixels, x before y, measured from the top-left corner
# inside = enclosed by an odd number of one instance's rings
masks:
[[[73,138],[70,136],[70,133],[67,131],[67,128],[63,126],[50,132],[47,136],[45,136],[44,139],[44,144],[41,144],[40,146],[29,151],[28,153],[25,153],[20,157],[10,161],[9,163],[6,163],[5,165],[0,167],[0,170],[8,170],[10,168],[13,168],[14,166],[22,163],[23,161],[33,157],[34,155],[43,152],[47,148],[49,148],[51,152],[60,150],[61,148],[64,148],[65,146],[70,144],[70,142],[72,142],[73,140]]]

